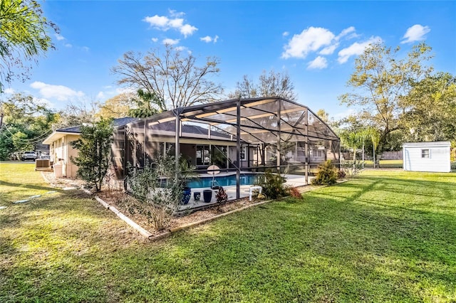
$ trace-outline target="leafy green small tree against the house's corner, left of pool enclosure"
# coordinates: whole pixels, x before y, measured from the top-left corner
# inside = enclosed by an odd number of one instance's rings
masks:
[[[76,176],[86,181],[88,186],[101,190],[103,179],[110,166],[113,124],[110,119],[100,119],[93,125],[81,127],[81,138],[71,142],[78,149],[78,156],[71,157],[78,166]]]

